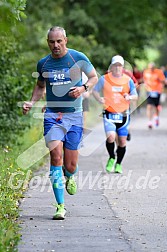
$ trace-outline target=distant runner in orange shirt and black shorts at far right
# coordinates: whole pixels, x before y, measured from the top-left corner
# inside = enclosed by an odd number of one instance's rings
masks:
[[[161,69],[155,68],[154,63],[149,63],[148,69],[143,72],[143,80],[147,90],[146,114],[148,117],[148,127],[152,129],[153,117],[155,119],[155,126],[159,125],[160,96],[163,90],[165,76]]]

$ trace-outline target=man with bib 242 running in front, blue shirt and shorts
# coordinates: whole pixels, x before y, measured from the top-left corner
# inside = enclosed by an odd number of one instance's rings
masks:
[[[38,81],[30,102],[23,105],[26,114],[46,89],[44,136],[50,150],[50,178],[58,203],[54,219],[65,218],[63,172],[67,177],[66,189],[75,194],[77,185],[73,175],[77,172],[78,148],[83,132],[82,93],[98,81],[96,71],[85,54],[66,47],[64,28],[52,27],[48,31],[51,54],[37,64]],[[82,85],[82,72],[88,77]]]

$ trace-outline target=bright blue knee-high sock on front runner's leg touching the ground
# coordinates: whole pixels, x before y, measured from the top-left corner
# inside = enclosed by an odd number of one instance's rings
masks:
[[[62,175],[62,166],[50,166],[50,179],[58,204],[64,204],[64,185]]]

